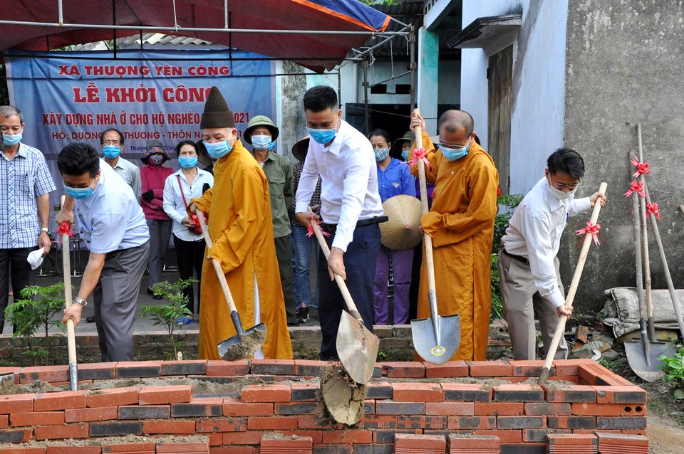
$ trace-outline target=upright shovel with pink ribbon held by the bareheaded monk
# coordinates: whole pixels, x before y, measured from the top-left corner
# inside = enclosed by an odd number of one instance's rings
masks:
[[[419,114],[416,109],[414,112]],[[415,146],[423,148],[423,132],[415,127]],[[420,178],[420,203],[423,215],[427,214],[427,187],[425,186],[425,163],[418,160]],[[461,343],[461,320],[458,314],[442,317],[437,312],[435,293],[435,263],[432,258],[432,238],[423,233],[425,242],[425,262],[427,265],[427,299],[430,302],[430,318],[411,320],[413,348],[421,358],[432,364],[444,364],[457,352]]]

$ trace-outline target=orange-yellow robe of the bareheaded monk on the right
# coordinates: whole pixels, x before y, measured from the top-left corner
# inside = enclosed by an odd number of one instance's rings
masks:
[[[465,157],[450,161],[442,152],[435,153],[430,137],[423,132],[423,147],[430,160],[425,176],[435,191],[432,208],[421,223],[432,237],[437,310],[440,315],[460,315],[460,347],[451,359],[483,361],[492,310],[489,270],[499,172],[489,154],[475,140],[470,143]],[[418,166],[411,173],[418,178]],[[430,317],[430,303],[423,249],[418,318],[425,317]]]

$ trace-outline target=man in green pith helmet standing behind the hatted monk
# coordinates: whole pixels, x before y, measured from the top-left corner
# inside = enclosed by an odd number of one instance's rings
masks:
[[[242,138],[252,144],[252,156],[269,179],[271,196],[271,218],[276,244],[276,257],[280,270],[280,282],[285,297],[285,313],[289,326],[298,326],[296,301],[294,299],[294,278],[292,277],[292,243],[290,241],[290,216],[288,207],[293,199],[292,164],[286,157],[272,152],[279,130],[269,117],[257,115],[249,120]]]

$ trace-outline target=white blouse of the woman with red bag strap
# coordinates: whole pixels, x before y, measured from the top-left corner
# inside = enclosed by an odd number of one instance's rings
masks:
[[[183,194],[185,194],[185,200],[188,204],[190,204],[190,199],[202,196],[202,186],[204,186],[204,183],[209,184],[209,187],[214,186],[214,176],[206,170],[197,169],[195,181],[192,181],[192,186],[190,186],[187,182],[187,177],[183,173],[183,169],[179,169],[167,176],[164,182],[164,212],[173,220],[171,231],[182,241],[198,241],[204,238],[202,233],[195,235],[195,233],[192,233],[189,228],[181,223],[183,218],[187,217],[187,211],[185,210],[183,196],[180,194],[180,188],[178,187],[178,175],[180,175]]]

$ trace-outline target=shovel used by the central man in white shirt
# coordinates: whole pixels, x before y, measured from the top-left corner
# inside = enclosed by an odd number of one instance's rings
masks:
[[[311,226],[314,228],[314,233],[316,233],[318,244],[321,245],[323,255],[328,260],[330,248],[328,248],[326,238],[323,238],[321,228],[313,219],[311,219]],[[354,300],[342,276],[336,274],[335,282],[340,287],[340,292],[349,310],[349,312],[343,310],[340,317],[340,326],[337,329],[337,354],[347,374],[351,376],[353,381],[361,384],[367,383],[371,376],[373,376],[380,339],[368,331],[366,325],[363,324],[363,318],[358,313],[358,310],[356,310]]]

